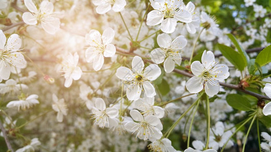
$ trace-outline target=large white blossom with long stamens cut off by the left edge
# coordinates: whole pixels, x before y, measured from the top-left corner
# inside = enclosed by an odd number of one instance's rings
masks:
[[[0,30],[0,79],[4,80],[9,79],[12,66],[17,68],[26,67],[23,55],[17,52],[21,47],[19,35],[10,35],[7,44],[6,40],[6,35]]]

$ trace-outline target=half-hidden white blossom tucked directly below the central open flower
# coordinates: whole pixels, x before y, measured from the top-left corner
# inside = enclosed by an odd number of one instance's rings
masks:
[[[137,109],[141,110],[143,116],[154,115],[157,118],[161,119],[165,115],[165,110],[160,106],[155,106],[155,97],[148,98],[140,98],[135,101],[135,106]]]

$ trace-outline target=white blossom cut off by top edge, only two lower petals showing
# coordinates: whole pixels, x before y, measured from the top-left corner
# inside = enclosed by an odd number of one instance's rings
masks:
[[[126,6],[125,0],[93,0],[92,3],[96,6],[96,12],[98,14],[105,14],[111,9],[114,12],[121,12]],[[113,7],[112,7],[113,5]]]

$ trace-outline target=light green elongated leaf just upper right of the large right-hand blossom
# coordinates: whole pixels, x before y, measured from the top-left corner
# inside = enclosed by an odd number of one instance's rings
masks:
[[[243,71],[245,69],[247,62],[238,52],[222,44],[218,44],[218,48],[222,55],[227,58],[230,63],[233,64],[237,69],[239,69],[240,71]]]

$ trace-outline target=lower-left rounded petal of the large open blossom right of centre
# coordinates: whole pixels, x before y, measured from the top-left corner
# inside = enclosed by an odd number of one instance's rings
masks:
[[[192,77],[187,81],[186,88],[190,93],[198,93],[203,89],[203,82],[196,76]]]

